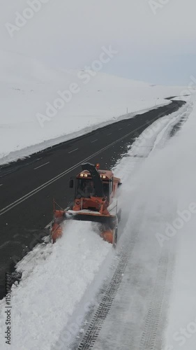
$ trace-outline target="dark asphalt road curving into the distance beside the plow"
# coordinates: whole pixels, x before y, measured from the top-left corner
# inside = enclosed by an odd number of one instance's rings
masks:
[[[72,199],[70,176],[82,162],[100,162],[112,167],[153,121],[177,111],[184,102],[173,101],[130,120],[100,128],[83,137],[1,167],[0,172],[0,296],[4,295],[5,272],[46,235],[52,218],[52,199],[61,207]]]

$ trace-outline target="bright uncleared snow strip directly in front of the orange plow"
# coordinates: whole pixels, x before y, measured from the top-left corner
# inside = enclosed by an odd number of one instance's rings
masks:
[[[56,244],[38,247],[22,260],[23,279],[12,295],[14,350],[50,349],[58,341],[111,249],[89,223],[75,222]],[[5,300],[0,305],[3,350]]]

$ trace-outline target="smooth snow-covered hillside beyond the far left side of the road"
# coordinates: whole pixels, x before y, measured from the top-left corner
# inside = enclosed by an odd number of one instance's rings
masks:
[[[164,97],[182,90],[95,71],[50,69],[0,51],[0,164],[112,123],[127,111],[168,104]]]

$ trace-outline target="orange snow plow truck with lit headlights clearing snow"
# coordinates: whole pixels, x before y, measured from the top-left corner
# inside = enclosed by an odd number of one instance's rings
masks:
[[[114,177],[110,170],[100,170],[99,164],[82,164],[82,172],[70,179],[74,187],[75,200],[65,210],[54,209],[50,238],[54,243],[62,236],[62,226],[68,220],[90,221],[96,223],[100,237],[116,246],[118,223],[121,209],[118,208],[116,192],[121,179]]]

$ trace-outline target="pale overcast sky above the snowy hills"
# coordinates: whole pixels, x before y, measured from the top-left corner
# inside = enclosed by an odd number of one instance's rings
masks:
[[[46,1],[13,31],[15,12]],[[156,3],[165,3],[156,8]],[[20,52],[51,66],[84,68],[102,47],[118,51],[103,70],[150,83],[188,84],[196,78],[195,0],[0,0],[1,50]],[[151,4],[151,6],[150,6]],[[154,6],[153,6],[154,5]]]

